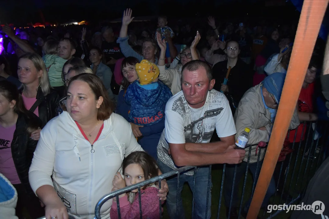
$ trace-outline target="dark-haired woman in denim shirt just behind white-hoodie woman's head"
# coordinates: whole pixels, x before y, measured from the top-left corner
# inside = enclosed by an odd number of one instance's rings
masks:
[[[110,99],[114,99],[114,94],[111,90],[112,71],[111,68],[102,63],[103,54],[98,47],[92,47],[89,53],[89,59],[91,61],[91,70],[97,75],[103,82]]]

